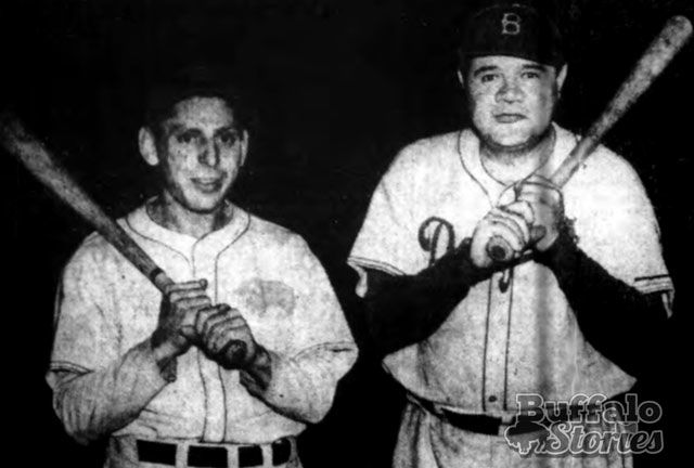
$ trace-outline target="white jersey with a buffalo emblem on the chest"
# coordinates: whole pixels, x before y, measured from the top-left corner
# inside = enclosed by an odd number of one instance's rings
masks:
[[[154,223],[144,207],[119,222],[174,281],[206,278],[215,303],[240,310],[274,353],[272,378],[257,399],[239,370],[191,348],[167,382],[147,346],[162,295],[94,234],[65,269],[48,374],[69,432],[88,440],[115,425],[113,438],[267,443],[325,415],[357,349],[321,264],[298,235],[240,208],[201,239]],[[76,375],[89,386],[70,386]],[[128,415],[125,426],[113,420]],[[119,454],[110,456],[120,466]]]

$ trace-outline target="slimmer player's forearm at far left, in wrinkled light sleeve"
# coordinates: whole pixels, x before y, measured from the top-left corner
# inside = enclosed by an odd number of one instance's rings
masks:
[[[130,349],[107,368],[78,374],[59,372],[53,406],[66,431],[87,443],[125,427],[167,384],[163,362],[150,341]]]

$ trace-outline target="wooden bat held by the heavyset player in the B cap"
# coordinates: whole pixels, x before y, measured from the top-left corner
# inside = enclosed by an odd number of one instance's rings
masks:
[[[562,187],[595,150],[602,138],[619,121],[633,103],[651,87],[653,81],[672,61],[692,37],[692,23],[684,16],[673,16],[651,42],[628,78],[612,99],[600,118],[588,129],[566,159],[552,174],[550,181]],[[487,253],[496,262],[511,259],[513,249],[499,236],[487,244]]]

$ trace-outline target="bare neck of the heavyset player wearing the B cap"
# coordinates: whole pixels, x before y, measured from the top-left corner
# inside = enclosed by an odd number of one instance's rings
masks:
[[[531,144],[506,147],[480,143],[481,162],[489,176],[504,185],[518,182],[549,159],[554,148],[554,129]]]

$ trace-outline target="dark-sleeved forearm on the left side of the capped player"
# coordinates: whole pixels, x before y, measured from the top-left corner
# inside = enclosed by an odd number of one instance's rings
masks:
[[[491,274],[472,263],[466,242],[416,275],[367,271],[367,326],[380,355],[428,338],[470,288]]]

